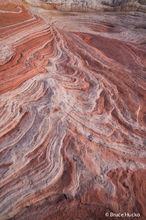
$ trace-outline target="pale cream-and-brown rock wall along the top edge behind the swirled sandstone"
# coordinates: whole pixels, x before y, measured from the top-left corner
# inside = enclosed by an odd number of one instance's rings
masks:
[[[146,11],[145,0],[25,0],[25,2],[64,11]]]

